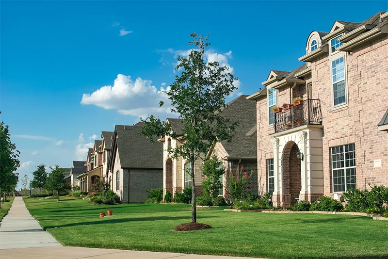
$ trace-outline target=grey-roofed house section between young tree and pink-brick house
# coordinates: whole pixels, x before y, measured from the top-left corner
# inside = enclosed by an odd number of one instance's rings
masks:
[[[257,163],[257,128],[256,128],[256,102],[246,99],[246,95],[239,96],[226,104],[220,113],[229,118],[230,122],[239,121],[233,138],[230,142],[221,141],[215,144],[210,150],[208,156],[213,153],[223,162],[226,173],[231,170],[240,171],[243,166],[243,172],[252,176],[246,183],[246,191],[263,191],[264,180],[258,181],[258,163]],[[224,188],[220,190],[220,195],[225,194],[226,178],[221,177]]]

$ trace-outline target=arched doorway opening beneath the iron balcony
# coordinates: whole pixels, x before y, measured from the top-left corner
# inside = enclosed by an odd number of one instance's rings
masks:
[[[302,189],[301,162],[296,157],[299,148],[289,141],[283,149],[282,156],[282,194],[283,207],[294,205]]]

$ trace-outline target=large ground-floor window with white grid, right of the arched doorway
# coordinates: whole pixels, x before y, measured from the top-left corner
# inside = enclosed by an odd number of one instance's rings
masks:
[[[333,192],[356,188],[355,144],[331,148]]]

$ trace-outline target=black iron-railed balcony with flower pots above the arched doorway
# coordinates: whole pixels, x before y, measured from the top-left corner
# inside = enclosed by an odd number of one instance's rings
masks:
[[[303,100],[300,105],[275,113],[275,133],[293,129],[302,125],[322,125],[321,101],[319,99]]]

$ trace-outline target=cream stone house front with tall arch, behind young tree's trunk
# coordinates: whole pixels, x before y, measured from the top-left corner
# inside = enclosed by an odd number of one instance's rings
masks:
[[[184,129],[184,121],[182,119],[167,118],[166,123],[171,125],[171,129],[180,136]],[[190,175],[191,162],[179,157],[177,159],[168,155],[167,148],[171,146],[175,148],[181,145],[181,138],[173,139],[169,136],[163,136],[158,139],[163,144],[163,197],[167,190],[175,195],[175,192],[182,193],[186,187],[191,187],[192,178]],[[204,155],[205,157],[205,155]],[[202,181],[205,175],[202,174],[202,160],[196,160],[194,163],[195,190],[196,195],[202,194]]]

